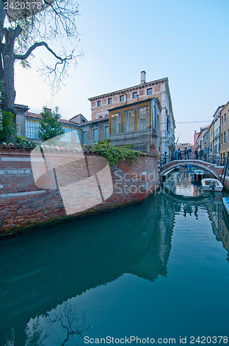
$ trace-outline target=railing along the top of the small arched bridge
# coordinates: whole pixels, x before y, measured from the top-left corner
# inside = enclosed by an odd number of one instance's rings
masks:
[[[227,163],[227,158],[226,157],[219,157],[216,155],[210,155],[210,154],[197,154],[195,155],[194,153],[188,153],[187,155],[184,155],[181,153],[181,155],[177,158],[175,154],[170,154],[170,155],[161,155],[161,165],[166,165],[166,163],[169,163],[171,161],[177,161],[177,160],[201,160],[201,161],[206,161],[209,163],[212,163],[213,165],[217,166],[225,166]]]

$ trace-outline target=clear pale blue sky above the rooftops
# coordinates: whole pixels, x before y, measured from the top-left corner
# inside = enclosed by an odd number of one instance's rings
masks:
[[[59,93],[37,73],[44,48],[35,51],[32,70],[15,67],[17,103],[39,112],[59,106],[63,118],[82,113],[90,120],[88,98],[168,77],[179,142],[193,143],[194,130],[212,120],[229,100],[228,0],[79,0],[77,28],[83,57]]]

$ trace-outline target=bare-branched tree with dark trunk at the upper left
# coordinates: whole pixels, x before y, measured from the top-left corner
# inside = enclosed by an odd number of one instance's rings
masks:
[[[24,4],[22,6],[22,4]],[[74,0],[1,0],[0,3],[0,81],[2,109],[16,114],[14,64],[30,67],[28,58],[38,47],[53,57],[42,72],[59,89],[70,62],[77,64],[79,34],[75,24],[79,4]],[[55,48],[54,48],[55,47]]]

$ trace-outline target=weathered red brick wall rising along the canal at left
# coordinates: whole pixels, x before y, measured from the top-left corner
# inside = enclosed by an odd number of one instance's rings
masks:
[[[49,154],[50,157],[54,155]],[[65,153],[61,155],[64,160]],[[91,174],[94,174],[92,167],[100,170],[101,167],[97,167],[97,163],[91,164],[95,160],[94,156],[85,154],[85,157],[88,158]],[[61,162],[61,156],[58,159]],[[37,167],[42,170],[39,161]],[[121,163],[112,167],[111,173],[113,193],[108,199],[77,214],[66,215],[59,188],[53,189],[52,174],[50,185],[42,188],[42,179],[39,180],[40,185],[37,184],[40,188],[35,185],[30,152],[16,149],[0,150],[0,235],[20,234],[23,230],[29,231],[66,219],[90,215],[98,210],[109,210],[132,201],[142,201],[159,183],[158,163],[154,156],[142,156],[133,165]],[[70,183],[71,179],[74,180],[75,165],[68,165],[66,175],[63,176],[63,180],[66,181],[63,181],[62,185]],[[83,189],[86,190],[86,187]]]

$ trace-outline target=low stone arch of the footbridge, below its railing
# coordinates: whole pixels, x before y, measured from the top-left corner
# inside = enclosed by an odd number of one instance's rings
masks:
[[[195,165],[195,166],[201,167],[204,170],[210,172],[213,176],[215,176],[216,179],[219,179],[223,172],[222,166],[214,165],[213,163],[209,163],[203,160],[194,160],[194,159],[175,160],[175,161],[170,161],[166,164],[161,165],[161,172],[160,172],[161,180],[162,180],[162,177],[165,176],[170,170],[182,165]]]

